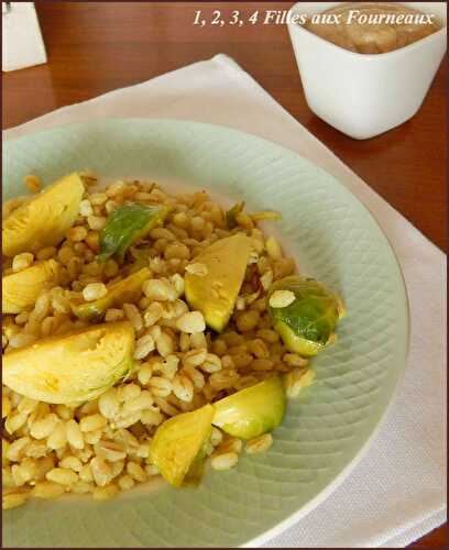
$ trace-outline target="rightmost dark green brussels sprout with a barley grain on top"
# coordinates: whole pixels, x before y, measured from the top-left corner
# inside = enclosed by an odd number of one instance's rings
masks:
[[[286,307],[270,306],[276,290],[291,290],[295,300]],[[300,355],[316,355],[336,340],[338,320],[343,317],[341,299],[314,278],[292,275],[276,280],[267,296],[274,329],[285,346]]]

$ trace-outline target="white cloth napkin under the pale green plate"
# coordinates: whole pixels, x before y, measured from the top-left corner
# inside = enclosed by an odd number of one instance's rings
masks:
[[[404,272],[412,348],[384,426],[362,461],[322,504],[284,532],[262,537],[254,544],[398,548],[441,525],[447,476],[446,256],[222,54],[58,109],[6,131],[3,138],[114,117],[223,124],[296,151],[336,176],[368,206]]]

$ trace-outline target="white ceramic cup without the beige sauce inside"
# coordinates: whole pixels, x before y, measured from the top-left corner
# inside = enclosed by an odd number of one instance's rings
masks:
[[[343,2],[298,2],[294,13],[311,15]],[[443,28],[386,54],[359,54],[288,23],[311,111],[337,130],[366,140],[410,119],[423,103],[447,47],[446,2],[397,2],[435,13]]]

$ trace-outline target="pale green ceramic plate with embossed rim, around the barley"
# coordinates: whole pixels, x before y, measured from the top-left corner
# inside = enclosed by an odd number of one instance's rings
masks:
[[[225,128],[174,120],[108,120],[36,133],[3,147],[6,198],[22,177],[76,169],[204,187],[250,209],[281,210],[276,226],[302,272],[348,307],[339,342],[314,360],[317,383],[288,405],[275,443],[208,472],[194,490],[136,490],[97,503],[32,502],[4,514],[14,547],[236,547],[267,540],[319,504],[348,474],[404,371],[408,312],[401,270],[368,210],[295,153]],[[270,227],[272,229],[272,227]]]

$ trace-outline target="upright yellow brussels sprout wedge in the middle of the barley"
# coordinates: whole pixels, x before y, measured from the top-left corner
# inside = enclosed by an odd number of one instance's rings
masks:
[[[237,233],[216,241],[195,257],[207,274],[186,273],[185,294],[191,309],[202,312],[206,323],[221,332],[231,317],[251,252],[251,240]]]

